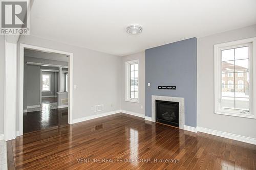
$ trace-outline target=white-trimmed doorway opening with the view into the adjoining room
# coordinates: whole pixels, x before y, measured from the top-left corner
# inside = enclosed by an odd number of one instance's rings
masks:
[[[20,44],[19,135],[72,124],[73,54]]]

